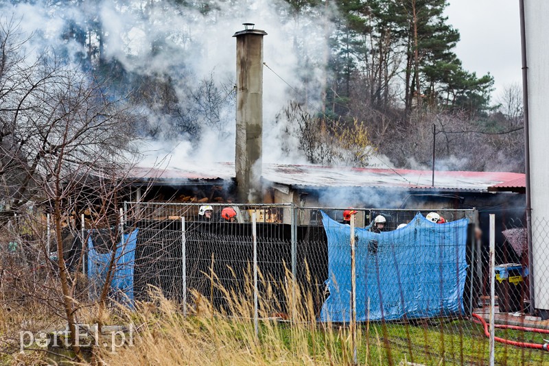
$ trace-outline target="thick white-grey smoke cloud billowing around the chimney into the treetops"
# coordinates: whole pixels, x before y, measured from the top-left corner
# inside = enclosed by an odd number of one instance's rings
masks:
[[[331,30],[329,21],[319,20],[334,19],[334,8],[298,14],[282,0],[203,1],[192,8],[170,1],[104,0],[7,3],[0,10],[20,19],[25,34],[34,34],[29,49],[37,54],[50,49],[69,62],[90,64],[87,55],[93,58],[101,53],[126,73],[170,80],[177,97],[177,123],[185,125],[183,131],[174,130],[173,112],[165,113],[154,105],[134,107],[145,116],[143,130],[154,132],[143,143],[147,156],[143,164],[171,155],[167,159],[172,167],[183,166],[189,159],[234,161],[232,36],[244,28],[241,23],[256,22],[256,28],[268,33],[264,42],[264,61],[270,68],[264,68],[264,162],[303,161],[299,155],[282,151],[283,127],[275,123],[275,117],[290,100],[311,108],[318,105],[327,61],[325,35]],[[201,95],[209,104],[203,103]],[[215,118],[207,115],[208,108]],[[290,150],[297,151],[294,147]]]

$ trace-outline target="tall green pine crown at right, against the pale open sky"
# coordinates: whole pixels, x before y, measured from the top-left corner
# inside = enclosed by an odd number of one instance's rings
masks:
[[[475,113],[487,108],[493,84],[490,75],[468,73],[454,53],[460,39],[447,23],[447,0],[388,1],[406,47],[405,108],[430,106],[464,108]],[[470,100],[468,100],[470,99]]]

